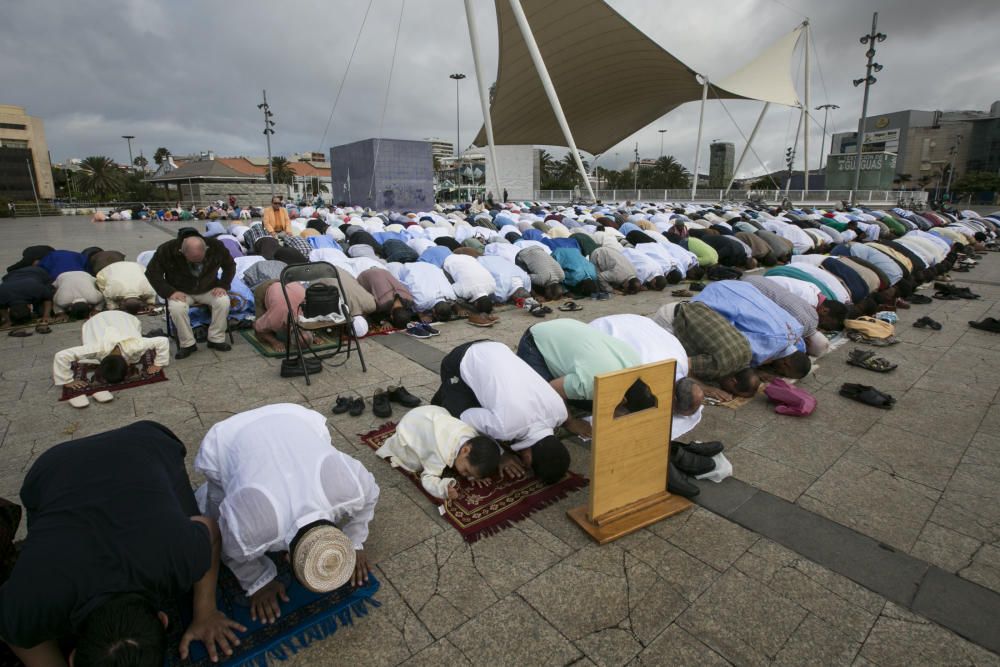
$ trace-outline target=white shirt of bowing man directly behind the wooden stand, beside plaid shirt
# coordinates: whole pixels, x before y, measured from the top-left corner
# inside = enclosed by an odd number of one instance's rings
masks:
[[[687,377],[688,356],[684,346],[676,336],[648,317],[628,313],[608,315],[590,322],[589,326],[631,345],[644,364],[676,360],[674,382]],[[697,426],[701,421],[702,410],[699,407],[693,415],[673,415],[670,437],[679,438]]]

